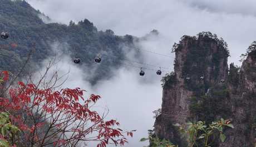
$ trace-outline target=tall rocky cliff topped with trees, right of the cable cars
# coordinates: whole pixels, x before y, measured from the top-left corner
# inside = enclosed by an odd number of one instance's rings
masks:
[[[174,124],[224,118],[232,120],[224,143],[211,146],[253,146],[256,85],[256,52],[250,52],[242,67],[230,64],[227,43],[209,32],[183,36],[174,45],[174,73],[163,84],[161,114],[155,135],[186,146]]]

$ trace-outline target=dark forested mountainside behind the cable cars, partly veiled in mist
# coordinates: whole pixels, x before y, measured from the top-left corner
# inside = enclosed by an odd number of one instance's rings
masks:
[[[43,59],[56,54],[53,52],[55,48],[59,49],[58,52],[71,54],[72,58],[80,58],[81,67],[88,69],[93,67],[93,59],[100,54],[104,60],[100,68],[93,70],[93,74],[87,70],[93,75],[90,82],[95,84],[99,79],[111,77],[111,70],[106,69],[119,68],[122,58],[135,48],[134,40],[138,39],[129,35],[116,36],[110,29],[97,31],[87,19],[77,24],[71,21],[66,25],[44,23],[40,17],[47,18],[26,1],[1,0],[0,31],[10,34],[9,39],[0,40],[1,69],[17,72],[33,47],[35,52],[29,62],[33,63],[30,65],[34,68],[40,67],[38,64]],[[139,51],[136,52],[139,56]]]

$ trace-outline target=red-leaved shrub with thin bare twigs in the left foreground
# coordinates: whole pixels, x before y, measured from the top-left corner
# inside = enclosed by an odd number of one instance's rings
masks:
[[[123,131],[117,128],[119,122],[93,110],[99,95],[85,98],[85,90],[80,88],[57,90],[56,81],[51,82],[56,77],[57,73],[50,82],[41,78],[38,84],[18,82],[9,88],[7,97],[0,97],[0,147],[75,147],[88,141],[106,147],[127,143],[125,134],[132,136],[135,130]],[[8,72],[0,73],[0,91],[7,81]],[[42,86],[46,83],[53,85]]]

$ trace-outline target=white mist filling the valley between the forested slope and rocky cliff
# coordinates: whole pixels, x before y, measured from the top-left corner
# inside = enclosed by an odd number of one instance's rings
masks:
[[[155,71],[145,70],[146,75],[141,77],[139,69],[123,67],[115,71],[113,78],[102,80],[93,87],[85,79],[90,77],[89,73],[82,70],[82,64],[73,63],[70,55],[63,54],[57,47],[68,48],[66,44],[55,43],[52,45],[54,57],[48,57],[42,63],[42,68],[33,75],[33,79],[40,79],[46,71],[46,67],[51,61],[51,68],[46,79],[51,79],[52,75],[57,72],[58,80],[56,85],[62,84],[61,88],[85,89],[85,95],[99,94],[102,99],[95,106],[102,114],[109,109],[108,119],[116,119],[120,122],[121,129],[137,130],[133,138],[128,138],[127,147],[144,146],[148,143],[141,143],[139,140],[147,136],[147,130],[152,129],[154,119],[152,111],[161,107],[161,85],[160,76]],[[111,68],[110,68],[111,70]],[[114,69],[112,69],[114,70]],[[47,80],[46,80],[47,82]],[[88,145],[95,145],[89,143]],[[111,145],[110,145],[111,146]]]

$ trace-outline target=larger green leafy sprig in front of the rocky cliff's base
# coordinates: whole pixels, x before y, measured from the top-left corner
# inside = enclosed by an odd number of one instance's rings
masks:
[[[210,141],[210,138],[215,138],[219,136],[219,139],[224,142],[227,138],[223,133],[224,128],[234,128],[230,124],[229,120],[220,119],[219,121],[214,121],[210,125],[206,125],[204,121],[197,121],[196,123],[188,122],[185,125],[176,124],[179,127],[179,130],[189,143],[189,147],[193,146],[211,146],[213,141]],[[214,137],[213,137],[214,136]]]

